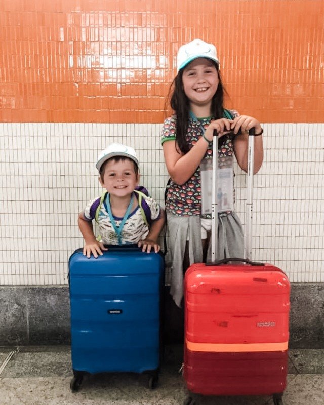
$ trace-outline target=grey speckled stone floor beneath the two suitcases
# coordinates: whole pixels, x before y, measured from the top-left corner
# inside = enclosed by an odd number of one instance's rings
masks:
[[[10,357],[11,355],[11,357]],[[10,358],[9,358],[10,357]],[[285,405],[323,405],[324,350],[291,349]],[[8,361],[9,359],[9,361]],[[85,377],[72,393],[69,346],[0,348],[1,405],[182,405],[188,397],[182,376],[182,346],[167,346],[156,389],[137,374]],[[272,398],[200,397],[201,405],[267,405]]]

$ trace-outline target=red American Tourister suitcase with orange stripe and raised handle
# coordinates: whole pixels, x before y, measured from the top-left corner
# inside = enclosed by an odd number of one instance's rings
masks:
[[[214,136],[212,247],[217,246],[217,149]],[[253,151],[254,129],[249,133],[247,259],[217,262],[212,249],[212,263],[193,264],[185,274],[184,378],[195,394],[273,395],[279,405],[287,378],[290,284],[279,268],[250,260]],[[193,403],[194,396],[185,401]]]

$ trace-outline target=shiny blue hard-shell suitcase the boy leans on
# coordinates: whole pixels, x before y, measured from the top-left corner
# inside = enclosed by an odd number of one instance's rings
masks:
[[[161,351],[164,258],[136,245],[69,259],[71,353],[77,391],[86,373],[146,373],[155,388]]]

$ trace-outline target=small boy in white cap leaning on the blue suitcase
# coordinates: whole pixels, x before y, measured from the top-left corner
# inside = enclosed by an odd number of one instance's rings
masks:
[[[157,253],[160,250],[157,238],[164,226],[165,214],[153,198],[135,190],[140,179],[135,150],[113,143],[100,153],[96,168],[99,182],[107,193],[101,200],[100,197],[91,200],[79,213],[78,225],[85,239],[83,254],[89,258],[92,253],[97,258],[107,250],[104,244],[138,244],[143,252],[149,253],[153,248]],[[149,220],[143,204],[149,209]],[[93,219],[99,225],[100,241],[93,231]]]

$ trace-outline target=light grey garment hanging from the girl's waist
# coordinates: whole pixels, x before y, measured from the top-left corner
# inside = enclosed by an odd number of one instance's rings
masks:
[[[180,307],[183,297],[182,263],[188,240],[189,262],[203,261],[201,245],[200,217],[167,213],[168,254],[167,267],[171,268],[171,288],[175,303]],[[217,258],[244,257],[244,234],[240,220],[235,212],[218,218],[218,249]],[[211,246],[208,247],[207,261],[211,260]]]

